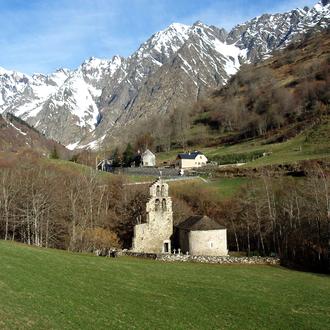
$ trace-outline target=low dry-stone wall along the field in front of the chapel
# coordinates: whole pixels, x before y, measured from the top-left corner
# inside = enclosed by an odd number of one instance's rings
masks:
[[[250,264],[250,265],[279,265],[280,259],[273,257],[216,257],[216,256],[191,256],[185,254],[155,254],[123,251],[119,255],[154,259],[165,262],[200,262],[209,264]]]

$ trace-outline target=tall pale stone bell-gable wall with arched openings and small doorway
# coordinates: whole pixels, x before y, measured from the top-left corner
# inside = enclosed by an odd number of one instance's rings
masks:
[[[145,253],[171,253],[172,200],[168,196],[168,184],[161,178],[150,187],[146,213],[146,223],[134,227],[132,250]]]

